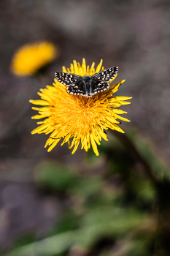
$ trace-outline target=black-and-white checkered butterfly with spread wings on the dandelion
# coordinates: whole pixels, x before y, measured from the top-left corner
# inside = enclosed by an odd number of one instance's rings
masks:
[[[109,88],[109,82],[117,74],[118,67],[110,67],[104,69],[95,75],[74,75],[65,72],[55,72],[55,78],[58,82],[67,86],[69,94],[82,95],[83,97],[92,97],[101,91],[106,91]]]

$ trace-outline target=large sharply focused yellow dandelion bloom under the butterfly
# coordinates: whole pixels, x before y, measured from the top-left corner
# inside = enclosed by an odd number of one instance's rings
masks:
[[[91,67],[86,67],[85,59],[83,59],[82,66],[79,63],[77,64],[77,61],[73,61],[70,69],[66,70],[63,67],[63,72],[91,76],[101,70],[101,65],[102,60],[96,69],[94,69],[94,62]],[[47,151],[51,151],[63,138],[61,146],[64,143],[68,143],[69,148],[74,146],[72,154],[74,154],[81,142],[85,151],[88,151],[91,144],[93,151],[98,156],[96,144],[100,145],[101,138],[107,140],[104,129],[110,128],[123,132],[117,126],[120,123],[117,119],[129,121],[119,116],[127,112],[117,109],[117,107],[130,104],[127,100],[131,99],[131,97],[112,97],[112,94],[117,91],[120,84],[124,83],[125,80],[121,80],[119,83],[110,86],[107,91],[100,92],[93,97],[69,94],[66,91],[66,86],[63,86],[58,80],[54,80],[53,86],[46,86],[47,88],[40,89],[41,92],[38,92],[38,94],[41,99],[30,100],[34,105],[42,105],[42,108],[33,107],[34,110],[39,111],[39,114],[32,118],[45,118],[45,120],[37,123],[40,126],[31,133],[51,133],[45,144],[45,147],[50,146]]]

